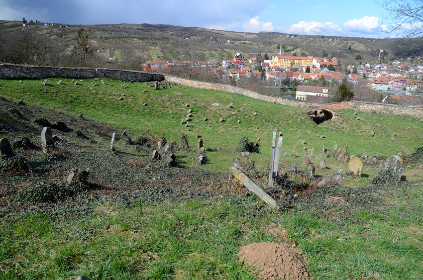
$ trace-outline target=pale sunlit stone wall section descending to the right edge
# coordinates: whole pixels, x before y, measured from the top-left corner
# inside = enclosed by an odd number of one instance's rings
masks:
[[[238,93],[252,98],[273,102],[277,104],[284,104],[296,107],[303,108],[314,108],[314,107],[324,107],[332,110],[340,109],[355,109],[369,113],[384,113],[384,114],[395,114],[395,115],[410,115],[417,118],[423,118],[423,106],[403,106],[403,105],[394,105],[394,104],[385,104],[385,103],[371,103],[363,101],[345,101],[339,103],[310,103],[304,101],[298,101],[294,99],[286,99],[276,96],[268,96],[249,90],[245,90],[238,87],[233,87],[223,84],[213,84],[206,83],[194,80],[188,80],[183,78],[178,78],[174,76],[165,75],[165,79],[169,82],[178,83],[188,87],[194,87],[199,89],[210,89],[216,91],[224,91],[229,93]]]

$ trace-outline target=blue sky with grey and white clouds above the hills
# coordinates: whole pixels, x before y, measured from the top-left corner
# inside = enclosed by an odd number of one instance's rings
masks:
[[[373,0],[0,0],[0,19],[67,24],[162,23],[230,31],[394,37]]]

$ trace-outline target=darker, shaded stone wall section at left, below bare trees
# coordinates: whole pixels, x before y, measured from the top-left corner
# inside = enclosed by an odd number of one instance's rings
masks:
[[[31,66],[0,63],[0,79],[47,79],[70,78],[92,79],[110,78],[121,81],[163,81],[161,74],[150,74],[139,71],[112,70],[100,68],[67,68],[51,66]]]

